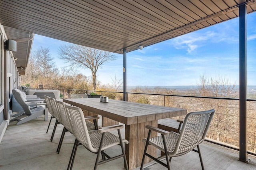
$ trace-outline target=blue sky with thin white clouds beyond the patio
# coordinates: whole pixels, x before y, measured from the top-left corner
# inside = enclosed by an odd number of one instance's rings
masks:
[[[128,86],[196,86],[202,75],[225,77],[239,84],[238,18],[127,53]],[[247,15],[248,85],[256,85],[256,12]],[[58,59],[64,41],[36,35],[32,51],[39,46],[50,49],[56,66],[68,66]],[[123,78],[123,56],[98,70],[101,84]],[[90,77],[89,69],[80,73]]]

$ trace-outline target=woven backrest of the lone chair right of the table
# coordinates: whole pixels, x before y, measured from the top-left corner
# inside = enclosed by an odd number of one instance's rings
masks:
[[[188,113],[184,119],[174,152],[177,154],[194,149],[202,143],[210,127],[214,109]]]

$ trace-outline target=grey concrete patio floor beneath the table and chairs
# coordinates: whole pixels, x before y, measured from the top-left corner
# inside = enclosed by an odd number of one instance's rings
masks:
[[[49,117],[50,120],[50,117]],[[62,132],[62,125],[58,125],[53,141],[50,141],[54,122],[46,133],[48,121],[44,117],[15,125],[11,122],[0,144],[0,170],[65,170],[72,151],[74,136],[66,133],[60,154],[56,153]],[[99,121],[100,124],[100,121]],[[122,130],[124,137],[124,129]],[[120,153],[120,147],[106,152],[112,156]],[[201,144],[201,152],[206,170],[256,170],[256,157],[248,155],[249,163],[238,161],[237,151],[226,149],[208,142]],[[82,145],[78,147],[73,169],[92,170],[96,154],[86,150]],[[200,160],[196,152],[189,152],[183,156],[172,158],[173,170],[200,170]],[[98,170],[123,170],[124,161],[119,158],[98,166]],[[145,167],[145,166],[144,166]],[[136,170],[139,168],[136,168]],[[144,170],[165,170],[160,164],[151,164]]]

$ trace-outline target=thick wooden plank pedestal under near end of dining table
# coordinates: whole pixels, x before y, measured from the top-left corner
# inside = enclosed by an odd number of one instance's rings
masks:
[[[129,141],[129,144],[125,145],[125,154],[130,170],[141,165],[142,156],[146,145],[146,143],[142,142],[142,139],[147,138],[148,136],[148,129],[145,128],[146,125],[157,127],[157,120],[133,125],[125,125],[125,139]],[[151,137],[155,137],[156,135],[156,132],[151,133]],[[148,146],[148,153],[156,157],[156,148]],[[144,164],[150,161],[152,160],[146,157]]]

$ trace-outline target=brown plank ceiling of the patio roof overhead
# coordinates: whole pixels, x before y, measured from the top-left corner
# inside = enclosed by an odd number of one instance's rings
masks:
[[[122,54],[236,18],[242,4],[256,10],[255,0],[0,0],[0,23]]]

